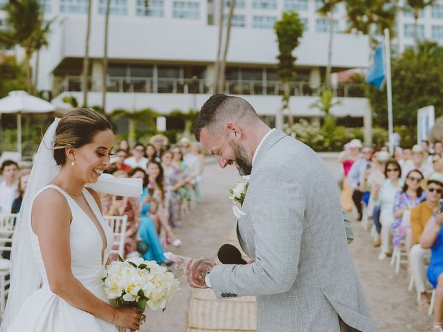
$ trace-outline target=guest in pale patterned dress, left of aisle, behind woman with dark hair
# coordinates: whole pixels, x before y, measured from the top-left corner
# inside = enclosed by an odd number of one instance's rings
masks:
[[[185,185],[185,181],[183,181],[179,167],[172,163],[172,151],[168,150],[163,152],[161,160],[163,161],[162,166],[165,175],[165,185],[169,195],[169,222],[173,227],[181,226],[181,221],[179,221],[180,197],[178,192],[179,189]]]

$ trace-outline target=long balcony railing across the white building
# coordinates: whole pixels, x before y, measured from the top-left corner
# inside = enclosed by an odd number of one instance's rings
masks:
[[[320,89],[309,82],[290,82],[291,95],[318,96]],[[54,95],[64,91],[82,91],[82,77],[55,77]],[[102,77],[89,77],[89,91],[102,91]],[[212,87],[203,79],[109,77],[107,91],[119,93],[212,93]],[[226,80],[225,93],[235,95],[282,95],[283,84],[278,81]],[[334,89],[336,97],[364,97],[361,84],[343,83]]]

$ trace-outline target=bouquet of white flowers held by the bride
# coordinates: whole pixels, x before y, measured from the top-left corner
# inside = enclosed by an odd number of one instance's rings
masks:
[[[164,266],[141,257],[125,261],[119,256],[106,268],[105,292],[109,299],[117,299],[122,306],[138,306],[145,310],[165,311],[166,303],[179,289],[179,281]]]

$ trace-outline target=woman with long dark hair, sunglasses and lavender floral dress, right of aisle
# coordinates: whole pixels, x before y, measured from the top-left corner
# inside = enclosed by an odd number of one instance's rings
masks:
[[[413,169],[406,175],[406,183],[400,192],[397,192],[394,199],[394,217],[392,223],[392,243],[399,248],[401,240],[406,240],[405,248],[409,254],[410,248],[414,244],[413,233],[410,225],[403,225],[401,221],[408,218],[410,221],[410,210],[422,203],[426,199],[426,192],[420,187],[423,180],[423,174],[417,169]]]

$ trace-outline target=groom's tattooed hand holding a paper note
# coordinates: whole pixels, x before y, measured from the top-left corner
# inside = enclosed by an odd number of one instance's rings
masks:
[[[169,254],[168,259],[174,261],[175,268],[183,277],[188,279],[190,286],[195,288],[208,288],[205,277],[217,264],[209,259],[192,259],[190,257]]]

